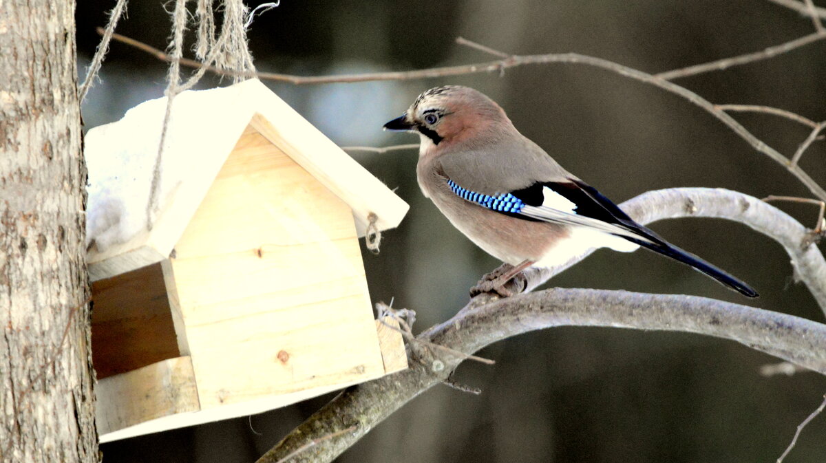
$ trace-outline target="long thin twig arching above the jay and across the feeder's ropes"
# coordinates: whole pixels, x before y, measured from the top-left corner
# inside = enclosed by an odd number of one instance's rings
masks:
[[[823,37],[826,37],[826,34],[812,34],[807,35],[799,40],[819,40]],[[143,44],[137,40],[130,39],[128,37],[124,37],[123,35],[114,34],[112,38],[116,40],[121,40],[124,43],[129,45],[135,46],[140,50],[144,50],[147,53],[153,54],[155,57],[159,59],[169,60],[169,56],[164,54],[164,52],[154,49],[150,45]],[[791,42],[790,42],[791,43]],[[781,45],[781,47],[786,47],[785,51],[791,50],[789,48],[789,44]],[[798,45],[800,46],[800,45]],[[775,47],[776,48],[776,47]],[[767,49],[768,50],[768,49]],[[776,54],[782,53],[784,50],[775,50],[771,52],[771,56]],[[759,52],[757,54],[750,54],[744,55],[748,58],[747,62],[751,62],[756,59],[764,59],[769,58],[769,54],[765,52]],[[731,64],[743,64],[740,62],[740,58],[742,57],[735,57],[729,58],[728,60]],[[724,61],[726,61],[724,60]],[[196,66],[201,67],[202,64],[198,63],[197,61],[192,61],[191,59],[181,59],[181,64],[188,65],[188,66]],[[783,156],[776,149],[771,148],[767,144],[765,144],[761,139],[758,139],[756,136],[752,135],[751,132],[746,130],[743,125],[741,125],[737,120],[734,120],[733,117],[729,116],[725,111],[721,111],[714,107],[714,104],[705,100],[705,98],[700,97],[700,95],[696,94],[695,92],[691,92],[691,90],[687,89],[686,87],[681,87],[676,83],[668,82],[666,79],[662,78],[662,74],[660,77],[653,76],[649,73],[644,73],[643,71],[639,71],[637,69],[629,68],[628,66],[624,66],[622,64],[614,63],[613,61],[609,61],[607,59],[596,58],[593,56],[587,56],[584,54],[577,54],[577,53],[563,53],[563,54],[529,54],[529,55],[511,55],[506,59],[501,59],[497,61],[489,61],[487,63],[479,63],[479,64],[463,64],[458,66],[448,66],[443,68],[432,68],[432,69],[420,69],[415,71],[406,71],[406,72],[389,72],[389,73],[361,73],[361,74],[342,74],[342,75],[333,75],[333,76],[311,76],[311,77],[301,77],[295,76],[291,74],[279,74],[279,73],[244,73],[244,72],[237,72],[237,71],[225,71],[221,69],[212,69],[208,67],[209,70],[216,73],[221,74],[229,74],[229,75],[243,75],[247,77],[256,77],[256,78],[263,78],[263,79],[271,79],[277,80],[282,82],[288,83],[295,83],[295,84],[309,84],[309,83],[354,83],[354,82],[366,82],[366,81],[376,81],[376,80],[406,80],[406,79],[414,79],[414,78],[436,78],[436,77],[447,77],[453,75],[460,75],[460,74],[469,74],[469,73],[488,73],[488,72],[495,72],[501,71],[501,69],[512,68],[515,66],[521,66],[525,64],[550,64],[550,63],[567,63],[567,64],[585,64],[587,66],[593,66],[600,69],[605,69],[607,71],[618,73],[626,78],[631,78],[637,80],[639,82],[648,83],[655,87],[662,88],[667,92],[672,92],[680,97],[685,98],[689,102],[694,103],[696,106],[700,106],[705,111],[709,112],[712,116],[716,117],[720,121],[722,121],[725,125],[728,125],[731,130],[734,131],[737,135],[741,138],[746,140],[748,144],[752,145],[752,148],[757,149],[757,151],[761,152],[762,154],[766,154],[769,158],[772,158],[776,163],[781,164],[786,170],[792,173],[795,177],[797,177],[800,182],[802,182],[806,187],[809,188],[809,191],[814,194],[814,196],[819,197],[820,199],[826,201],[826,190],[823,187],[820,187],[817,182],[814,182],[812,177],[809,177],[803,169],[801,169],[797,165],[790,165],[789,159],[786,156]],[[715,62],[718,63],[715,66],[719,67],[719,61]],[[714,67],[713,69],[707,70],[714,70],[718,69]],[[676,71],[680,71],[681,73],[685,73],[684,69],[677,69]],[[676,72],[675,71],[675,72]],[[703,71],[705,72],[705,71]],[[695,72],[696,73],[696,72]],[[685,74],[681,74],[685,75]]]

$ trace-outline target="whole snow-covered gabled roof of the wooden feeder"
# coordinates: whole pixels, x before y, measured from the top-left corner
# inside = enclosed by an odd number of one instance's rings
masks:
[[[263,83],[250,79],[175,97],[159,168],[157,207],[148,214],[166,102],[165,97],[143,102],[121,120],[89,130],[84,139],[93,280],[169,256],[250,122],[353,209],[359,236],[370,212],[378,216],[379,229],[390,229],[409,208]]]

